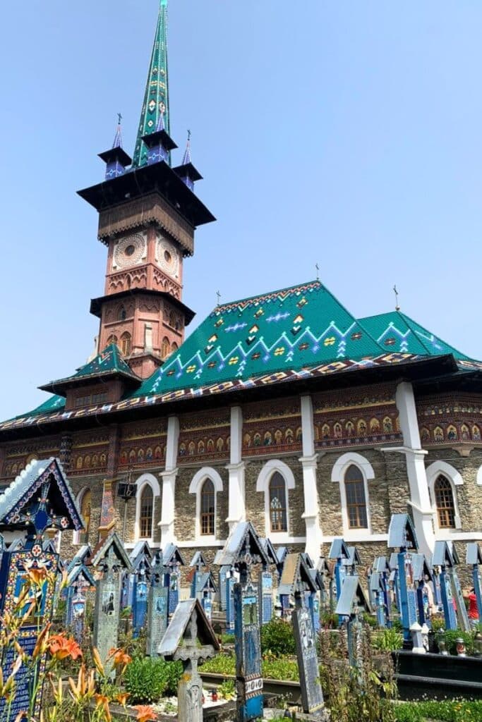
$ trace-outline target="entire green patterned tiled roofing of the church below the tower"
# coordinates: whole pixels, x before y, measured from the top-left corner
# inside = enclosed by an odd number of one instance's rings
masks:
[[[310,281],[218,305],[139,388],[92,413],[447,354],[455,357],[460,372],[482,370],[482,362],[405,314],[357,319],[321,282]],[[105,373],[129,375],[140,383],[116,346],[104,349],[68,380]],[[40,417],[69,418],[72,412],[64,412],[64,405],[62,396],[51,396],[33,411],[3,422],[0,430],[31,425]]]

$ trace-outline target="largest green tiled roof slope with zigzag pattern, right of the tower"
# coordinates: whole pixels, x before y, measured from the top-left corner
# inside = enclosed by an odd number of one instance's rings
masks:
[[[319,281],[220,305],[131,396],[385,353]]]

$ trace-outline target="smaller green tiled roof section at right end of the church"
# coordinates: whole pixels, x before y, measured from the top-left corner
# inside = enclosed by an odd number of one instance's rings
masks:
[[[469,360],[468,356],[431,334],[401,311],[380,313],[378,316],[360,318],[359,321],[384,352],[392,350],[425,356],[453,354],[457,360]]]

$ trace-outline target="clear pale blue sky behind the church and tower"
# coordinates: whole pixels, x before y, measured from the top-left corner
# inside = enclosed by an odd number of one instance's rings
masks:
[[[76,196],[130,153],[157,0],[4,7],[0,416],[85,362],[106,249]],[[482,358],[482,4],[171,0],[171,134],[218,222],[184,269],[196,323],[320,277],[357,316],[405,313]],[[181,151],[179,151],[181,152]]]

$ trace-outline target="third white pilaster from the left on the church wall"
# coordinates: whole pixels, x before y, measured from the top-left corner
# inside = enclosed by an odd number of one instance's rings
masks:
[[[322,530],[319,526],[319,504],[317,492],[317,459],[314,453],[313,404],[311,396],[301,396],[301,430],[303,432],[303,456],[300,458],[303,467],[304,519],[306,527],[305,551],[316,564],[322,543]]]

